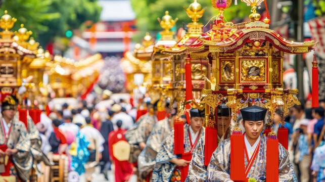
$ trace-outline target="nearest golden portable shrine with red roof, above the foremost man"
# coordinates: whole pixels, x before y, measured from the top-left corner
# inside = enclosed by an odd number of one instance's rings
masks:
[[[205,160],[205,165],[208,165],[217,147],[216,142],[207,139],[217,138],[216,107],[222,102],[226,102],[226,106],[233,111],[233,119],[236,122],[239,109],[251,105],[268,109],[268,123],[264,134],[269,138],[273,137],[272,139],[278,138],[278,142],[288,148],[288,130],[285,128],[285,123],[281,123],[277,137],[272,128],[273,113],[277,107],[282,107],[284,121],[284,116],[289,112],[288,108],[300,104],[295,96],[298,94],[298,89],[284,89],[283,57],[284,54],[308,53],[319,43],[294,42],[281,37],[268,28],[269,16],[260,21],[256,8],[263,0],[242,1],[252,7],[250,22],[225,23],[223,12],[232,1],[212,0],[213,7],[219,9],[212,29],[203,33],[191,44],[185,45],[192,59],[208,59],[211,65],[209,70],[211,77],[205,78],[206,84],[205,89],[202,90],[201,101],[206,106],[205,157],[208,160]],[[314,70],[317,70],[315,61]],[[314,86],[316,84],[313,84],[313,90],[317,91]],[[241,129],[237,122],[236,128],[233,128],[233,135],[236,137],[241,135],[240,133]]]

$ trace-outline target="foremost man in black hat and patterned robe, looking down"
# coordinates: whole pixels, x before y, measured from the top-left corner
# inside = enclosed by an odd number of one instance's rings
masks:
[[[231,160],[230,162],[230,139],[226,139],[212,154],[207,169],[208,181],[237,181],[239,180],[238,178],[242,178],[241,181],[266,180],[266,176],[268,175],[266,168],[266,146],[267,141],[270,139],[268,139],[265,135],[261,135],[264,127],[266,111],[267,109],[258,106],[250,106],[241,110],[243,116],[242,124],[246,132],[243,134],[244,148],[239,149],[237,147],[236,150],[243,150],[244,153],[243,167],[245,166],[245,168],[243,169],[243,176],[239,174],[240,171],[230,169],[230,163],[234,162],[233,164],[235,164],[235,168],[240,166],[241,161]],[[273,171],[271,172],[272,174],[274,173],[274,175],[269,176],[268,181],[297,181],[294,168],[289,161],[288,151],[280,143],[276,143],[276,145],[278,146],[278,156],[274,156],[274,160],[278,159],[278,173],[277,171],[274,172],[274,167],[272,167]],[[236,146],[236,144],[234,144],[234,146]],[[272,148],[269,150],[269,152],[275,152],[274,150],[276,149]],[[269,165],[270,164],[271,163],[269,163]],[[275,174],[278,174],[278,176]]]

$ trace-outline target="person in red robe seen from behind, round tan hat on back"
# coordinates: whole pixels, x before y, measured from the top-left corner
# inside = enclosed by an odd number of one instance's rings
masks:
[[[109,153],[115,165],[116,182],[128,181],[133,174],[132,164],[127,161],[128,155],[125,154],[126,151],[128,152],[129,145],[124,138],[126,130],[121,128],[122,123],[122,120],[118,120],[116,122],[117,129],[108,135]]]

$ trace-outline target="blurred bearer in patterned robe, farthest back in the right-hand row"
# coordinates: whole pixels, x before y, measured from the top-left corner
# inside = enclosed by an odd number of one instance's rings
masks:
[[[125,132],[125,139],[131,146],[129,162],[137,162],[138,155],[146,147],[149,134],[157,123],[158,101],[154,104],[147,104],[149,113],[141,116],[135,125]]]

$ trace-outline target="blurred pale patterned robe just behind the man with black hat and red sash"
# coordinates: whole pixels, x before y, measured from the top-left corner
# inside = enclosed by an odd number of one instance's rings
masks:
[[[171,120],[165,118],[155,124],[151,131],[146,147],[137,159],[137,167],[141,178],[146,178],[146,176],[154,169],[156,156],[161,148],[161,144],[165,141],[167,136],[171,135],[170,124],[172,124]]]

